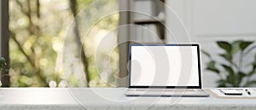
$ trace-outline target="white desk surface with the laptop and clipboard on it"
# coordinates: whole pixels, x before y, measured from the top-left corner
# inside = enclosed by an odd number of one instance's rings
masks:
[[[0,88],[1,110],[253,110],[256,99],[125,96],[126,88]]]

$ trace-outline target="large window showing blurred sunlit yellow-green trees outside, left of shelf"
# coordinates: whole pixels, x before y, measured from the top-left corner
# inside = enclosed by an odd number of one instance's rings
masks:
[[[114,46],[119,13],[108,12],[118,9],[118,1],[93,2],[9,0],[11,87],[116,85],[119,49]],[[102,10],[108,15],[87,28],[84,22],[95,19]]]

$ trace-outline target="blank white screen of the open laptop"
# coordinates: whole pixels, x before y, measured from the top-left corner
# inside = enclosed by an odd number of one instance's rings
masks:
[[[130,47],[130,86],[201,86],[198,45]]]

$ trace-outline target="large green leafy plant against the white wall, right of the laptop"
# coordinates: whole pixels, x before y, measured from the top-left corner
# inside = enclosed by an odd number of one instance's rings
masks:
[[[218,41],[218,47],[224,49],[224,53],[218,55],[224,61],[217,61],[206,51],[202,51],[210,61],[207,62],[207,71],[218,74],[218,87],[248,87],[256,84],[252,76],[256,74],[256,55],[253,42],[238,40],[232,43]],[[251,58],[251,61],[244,61]]]

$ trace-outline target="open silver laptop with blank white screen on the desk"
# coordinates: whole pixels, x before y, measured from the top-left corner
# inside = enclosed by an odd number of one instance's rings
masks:
[[[125,96],[209,96],[201,89],[198,43],[131,44]]]

